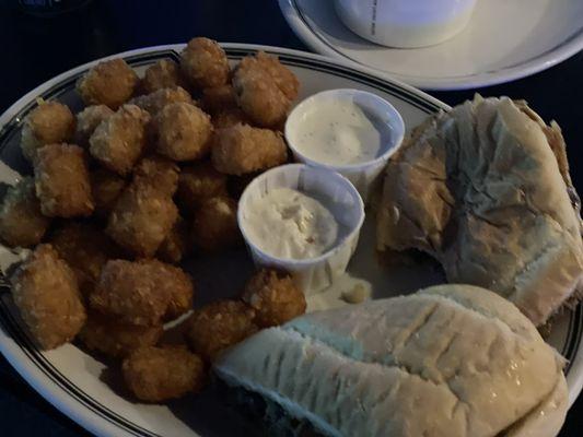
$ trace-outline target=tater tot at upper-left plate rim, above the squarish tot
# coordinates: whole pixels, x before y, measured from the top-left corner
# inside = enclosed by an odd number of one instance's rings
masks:
[[[21,149],[24,157],[33,161],[43,145],[69,141],[75,129],[75,119],[67,105],[45,102],[24,120]]]

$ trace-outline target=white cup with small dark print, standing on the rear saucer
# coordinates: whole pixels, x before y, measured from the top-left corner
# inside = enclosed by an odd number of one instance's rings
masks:
[[[389,47],[432,46],[468,24],[476,0],[335,0],[355,34]]]

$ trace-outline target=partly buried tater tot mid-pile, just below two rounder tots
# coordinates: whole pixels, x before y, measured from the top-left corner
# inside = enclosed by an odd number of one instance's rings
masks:
[[[178,166],[163,156],[143,157],[133,169],[136,184],[149,184],[167,196],[174,196],[178,188]]]

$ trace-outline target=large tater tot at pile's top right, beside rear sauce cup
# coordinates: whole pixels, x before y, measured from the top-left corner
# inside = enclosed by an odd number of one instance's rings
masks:
[[[293,99],[299,82],[276,57],[264,52],[244,58],[233,74],[238,106],[261,127],[280,126]]]

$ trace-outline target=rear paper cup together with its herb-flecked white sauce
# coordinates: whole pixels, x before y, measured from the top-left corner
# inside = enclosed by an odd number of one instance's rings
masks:
[[[403,142],[405,123],[384,98],[341,88],[301,102],[288,117],[284,134],[295,161],[340,173],[366,201]]]

